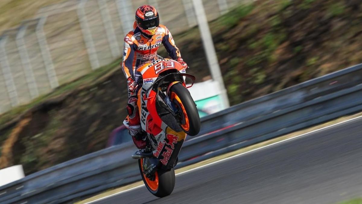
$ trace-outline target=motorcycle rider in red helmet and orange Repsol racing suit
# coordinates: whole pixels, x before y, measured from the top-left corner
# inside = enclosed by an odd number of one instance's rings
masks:
[[[187,64],[181,58],[180,50],[176,47],[171,33],[166,26],[159,24],[159,13],[150,5],[143,5],[136,11],[134,29],[130,31],[124,41],[122,70],[127,78],[129,115],[129,133],[136,147],[144,149],[146,142],[140,133],[140,118],[137,106],[137,85],[142,80],[142,74],[135,70],[145,63],[156,60],[157,50],[161,43],[166,48],[169,56],[184,68]]]

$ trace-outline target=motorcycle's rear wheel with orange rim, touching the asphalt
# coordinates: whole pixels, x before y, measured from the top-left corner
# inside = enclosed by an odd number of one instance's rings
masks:
[[[157,197],[165,197],[172,193],[175,187],[175,171],[173,168],[169,170],[157,170],[152,179],[147,178],[143,173],[143,158],[138,160],[139,170],[141,172],[142,180],[148,191]]]

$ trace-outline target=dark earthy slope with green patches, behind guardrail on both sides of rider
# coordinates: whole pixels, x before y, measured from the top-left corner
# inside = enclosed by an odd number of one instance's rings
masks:
[[[211,22],[231,103],[361,62],[360,6],[359,1],[260,0]],[[189,73],[200,81],[209,70],[198,36],[194,28],[174,38]],[[29,174],[104,148],[109,132],[125,117],[125,80],[118,63],[3,114],[0,144],[18,138],[3,161],[22,163]],[[49,106],[52,101],[59,102]],[[18,135],[10,134],[24,118],[44,121],[41,127],[30,122]]]

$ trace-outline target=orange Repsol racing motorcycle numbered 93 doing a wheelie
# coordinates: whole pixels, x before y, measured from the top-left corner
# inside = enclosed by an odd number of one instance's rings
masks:
[[[195,77],[174,60],[161,58],[136,70],[142,74],[138,85],[141,130],[147,138],[145,152],[137,151],[139,170],[148,191],[157,197],[168,196],[175,185],[174,167],[186,134],[197,135],[200,118],[187,88]],[[192,83],[186,86],[185,79]],[[129,126],[126,120],[123,122]]]

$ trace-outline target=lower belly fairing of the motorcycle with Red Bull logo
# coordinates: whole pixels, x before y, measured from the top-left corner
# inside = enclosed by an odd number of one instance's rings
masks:
[[[156,152],[153,155],[159,159],[166,168],[172,168],[185,139],[185,132],[176,132],[167,127],[166,136],[163,140],[160,140]]]

